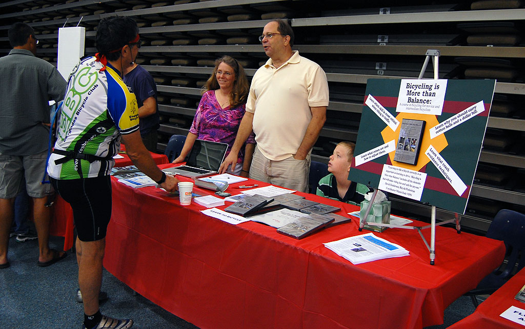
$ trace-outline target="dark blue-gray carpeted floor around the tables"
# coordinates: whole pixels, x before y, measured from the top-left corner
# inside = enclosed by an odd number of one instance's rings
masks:
[[[60,249],[63,238],[51,238],[51,247]],[[0,270],[0,328],[81,328],[83,312],[75,301],[77,262],[75,255],[47,268],[36,266],[37,241],[9,241],[11,267]],[[101,305],[103,314],[131,317],[133,328],[198,329],[165,311],[104,270],[102,289],[110,298]],[[445,310],[444,324],[427,327],[442,329],[474,312],[469,298],[461,297]],[[235,328],[232,328],[235,329]],[[317,329],[317,328],[316,328]]]

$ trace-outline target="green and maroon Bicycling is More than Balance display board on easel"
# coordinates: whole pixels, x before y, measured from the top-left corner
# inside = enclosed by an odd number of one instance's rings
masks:
[[[495,86],[369,79],[348,179],[465,214]]]

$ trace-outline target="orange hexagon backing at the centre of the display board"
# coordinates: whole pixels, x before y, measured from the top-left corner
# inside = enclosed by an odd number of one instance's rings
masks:
[[[423,168],[428,162],[430,162],[430,159],[425,155],[425,151],[428,149],[428,146],[432,145],[438,152],[443,151],[443,149],[448,146],[445,134],[440,134],[439,136],[436,136],[434,137],[434,139],[430,140],[430,133],[428,132],[428,130],[439,124],[436,115],[401,112],[396,116],[396,119],[400,122],[400,124],[397,126],[396,131],[392,131],[392,129],[390,129],[389,126],[386,126],[386,128],[383,129],[383,131],[381,132],[381,136],[383,136],[383,141],[387,143],[393,140],[395,142],[396,148],[397,140],[399,139],[399,134],[401,130],[401,121],[403,119],[422,120],[425,121],[426,124],[425,133],[423,134],[423,140],[421,141],[421,147],[419,148],[419,155],[417,157],[416,164],[411,165],[403,162],[394,161],[395,151],[392,151],[388,153],[388,157],[390,158],[390,162],[392,163],[392,165],[396,167],[411,169],[414,171],[420,171],[421,168]]]

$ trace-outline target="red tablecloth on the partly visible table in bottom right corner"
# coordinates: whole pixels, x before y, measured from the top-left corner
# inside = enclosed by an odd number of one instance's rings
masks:
[[[525,310],[525,303],[514,299],[514,296],[516,296],[524,284],[525,269],[522,269],[500,289],[490,295],[489,298],[479,304],[474,313],[449,326],[449,329],[523,328],[523,325],[507,320],[499,315],[510,306],[516,306],[519,309]]]

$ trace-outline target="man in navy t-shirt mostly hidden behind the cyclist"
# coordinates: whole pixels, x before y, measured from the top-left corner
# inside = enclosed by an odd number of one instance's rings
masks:
[[[139,47],[140,48],[140,47]],[[150,72],[137,63],[125,71],[124,83],[130,87],[139,106],[140,136],[148,151],[157,151],[157,129],[159,129],[159,107],[157,87]]]

